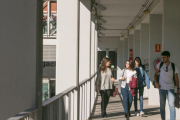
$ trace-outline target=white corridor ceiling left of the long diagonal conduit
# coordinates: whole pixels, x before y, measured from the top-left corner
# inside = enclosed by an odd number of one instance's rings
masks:
[[[105,11],[100,11],[98,15],[107,23],[102,24],[107,29],[126,29],[138,14],[146,0],[96,0],[107,7]],[[101,31],[106,36],[120,36],[122,30]]]

